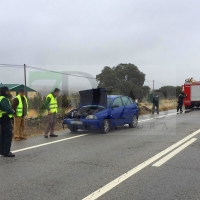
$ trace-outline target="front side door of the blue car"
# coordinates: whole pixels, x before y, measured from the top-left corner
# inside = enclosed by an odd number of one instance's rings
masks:
[[[111,119],[112,124],[119,126],[124,124],[123,120],[123,111],[124,111],[124,105],[122,103],[121,97],[117,97],[113,100],[112,108],[111,108]]]

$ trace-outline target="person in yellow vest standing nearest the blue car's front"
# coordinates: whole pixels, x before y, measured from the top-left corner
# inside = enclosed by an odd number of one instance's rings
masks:
[[[53,93],[50,93],[46,97],[45,107],[48,111],[48,125],[44,132],[45,138],[48,138],[48,135],[50,137],[58,137],[58,135],[54,133],[54,128],[56,125],[56,114],[58,113],[57,97],[59,96],[59,94],[60,89],[55,88]]]

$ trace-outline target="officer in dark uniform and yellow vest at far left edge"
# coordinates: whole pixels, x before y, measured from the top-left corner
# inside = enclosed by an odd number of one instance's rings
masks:
[[[13,114],[15,113],[10,105],[10,91],[7,87],[1,88],[0,94],[0,121],[1,121],[1,137],[0,137],[0,154],[4,157],[15,157],[10,152],[12,143],[12,123]]]

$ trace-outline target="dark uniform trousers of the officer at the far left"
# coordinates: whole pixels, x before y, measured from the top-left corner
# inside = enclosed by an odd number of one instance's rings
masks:
[[[12,143],[12,124],[10,119],[1,119],[0,124],[0,154],[7,155],[10,153]]]

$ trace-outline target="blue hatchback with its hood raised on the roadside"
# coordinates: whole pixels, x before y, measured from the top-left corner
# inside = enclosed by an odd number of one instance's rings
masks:
[[[107,95],[104,88],[80,91],[80,105],[63,119],[71,132],[100,130],[108,133],[112,127],[138,125],[138,107],[127,96]]]

